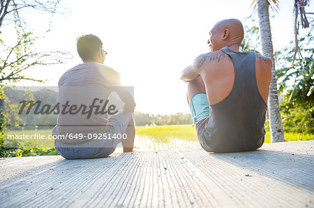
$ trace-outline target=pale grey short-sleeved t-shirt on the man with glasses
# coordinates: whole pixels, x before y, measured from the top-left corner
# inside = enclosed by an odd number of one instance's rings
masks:
[[[77,136],[84,136],[84,138],[75,141],[75,144],[82,144],[88,141],[87,138],[91,137],[91,134],[103,134],[107,131],[109,128],[108,116],[103,113],[95,113],[96,106],[99,106],[98,111],[101,111],[105,106],[105,100],[112,93],[110,87],[121,86],[119,72],[100,63],[86,62],[65,72],[59,79],[58,86],[57,102],[61,111],[58,115],[57,126],[52,129],[52,134],[67,135],[66,140],[59,139],[58,141],[73,144],[73,140],[68,138],[80,134]],[[103,102],[100,102],[101,100]],[[93,102],[95,104],[92,109],[93,113],[89,115],[87,112]],[[61,113],[62,106],[66,104],[68,104],[68,108]],[[72,111],[70,108],[73,108]],[[80,111],[78,111],[79,109]]]

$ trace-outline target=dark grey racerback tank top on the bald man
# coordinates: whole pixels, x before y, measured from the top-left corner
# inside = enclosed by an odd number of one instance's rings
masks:
[[[255,54],[220,50],[232,59],[234,85],[225,99],[209,106],[209,120],[199,132],[206,137],[201,145],[214,152],[256,150],[264,143],[267,104],[257,87]]]

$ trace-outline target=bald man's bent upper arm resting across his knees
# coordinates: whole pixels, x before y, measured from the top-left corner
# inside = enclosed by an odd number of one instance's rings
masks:
[[[186,67],[182,72],[181,72],[181,79],[183,81],[192,81],[196,79],[197,77],[200,77],[200,68],[202,67],[204,61],[208,57],[208,54],[202,54],[195,58],[195,61],[193,65],[190,65]]]

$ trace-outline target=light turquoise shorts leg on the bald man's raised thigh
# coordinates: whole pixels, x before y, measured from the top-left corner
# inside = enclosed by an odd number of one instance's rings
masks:
[[[195,129],[200,129],[209,118],[209,102],[205,93],[197,93],[190,99],[190,113]]]

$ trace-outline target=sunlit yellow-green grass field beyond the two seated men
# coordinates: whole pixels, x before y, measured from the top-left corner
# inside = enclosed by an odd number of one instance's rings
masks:
[[[267,129],[268,130],[268,129]],[[51,134],[50,129],[12,131],[10,134],[44,135]],[[198,143],[193,125],[165,125],[155,127],[136,127],[135,150],[157,150],[181,147],[195,147]],[[5,135],[5,138],[6,135]],[[310,134],[285,133],[285,141],[313,140]],[[267,131],[265,143],[271,142],[270,133]],[[22,147],[54,147],[53,139],[32,139],[19,141]]]

